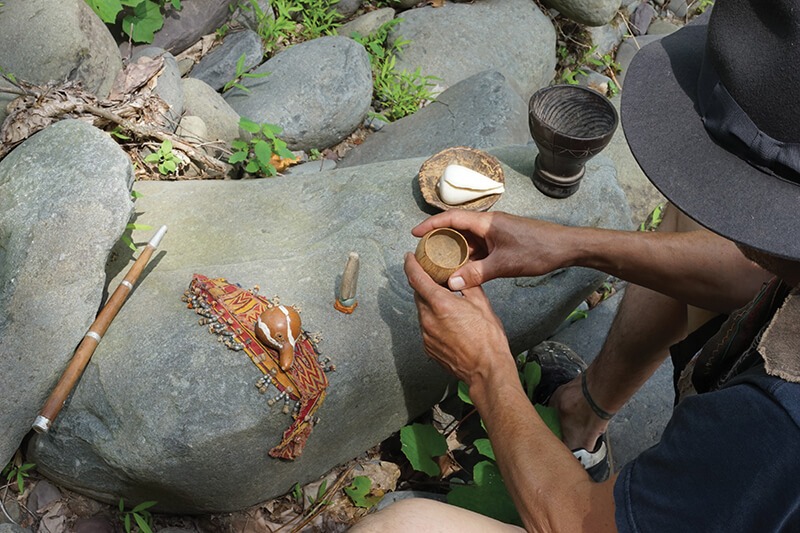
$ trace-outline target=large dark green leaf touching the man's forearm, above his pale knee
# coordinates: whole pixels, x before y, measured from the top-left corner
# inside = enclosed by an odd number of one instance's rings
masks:
[[[521,526],[522,520],[503,484],[497,465],[481,461],[475,465],[473,475],[474,484],[453,486],[447,494],[447,503]]]

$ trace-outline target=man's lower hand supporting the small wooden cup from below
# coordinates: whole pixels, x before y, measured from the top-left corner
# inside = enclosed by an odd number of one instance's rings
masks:
[[[467,385],[486,381],[496,370],[516,376],[503,325],[480,286],[452,293],[436,284],[411,253],[405,272],[429,356]]]

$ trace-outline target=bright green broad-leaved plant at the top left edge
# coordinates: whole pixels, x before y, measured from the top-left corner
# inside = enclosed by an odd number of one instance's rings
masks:
[[[164,12],[171,7],[180,11],[181,0],[86,0],[106,24],[122,16],[122,31],[137,43],[152,43],[154,34],[164,25]]]

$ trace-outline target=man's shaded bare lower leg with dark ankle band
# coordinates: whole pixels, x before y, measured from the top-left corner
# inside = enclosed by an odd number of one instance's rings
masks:
[[[659,231],[698,230],[707,231],[674,208],[667,208],[659,226]],[[628,285],[605,344],[586,371],[592,399],[603,410],[617,412],[658,369],[669,347],[713,316],[664,294]],[[608,421],[597,416],[583,397],[580,378],[558,388],[550,405],[559,411],[564,443],[570,449],[594,449]]]

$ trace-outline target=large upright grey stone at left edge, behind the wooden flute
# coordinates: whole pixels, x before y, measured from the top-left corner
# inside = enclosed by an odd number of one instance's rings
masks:
[[[94,320],[132,183],[125,152],[78,120],[42,130],[0,161],[2,464]]]

